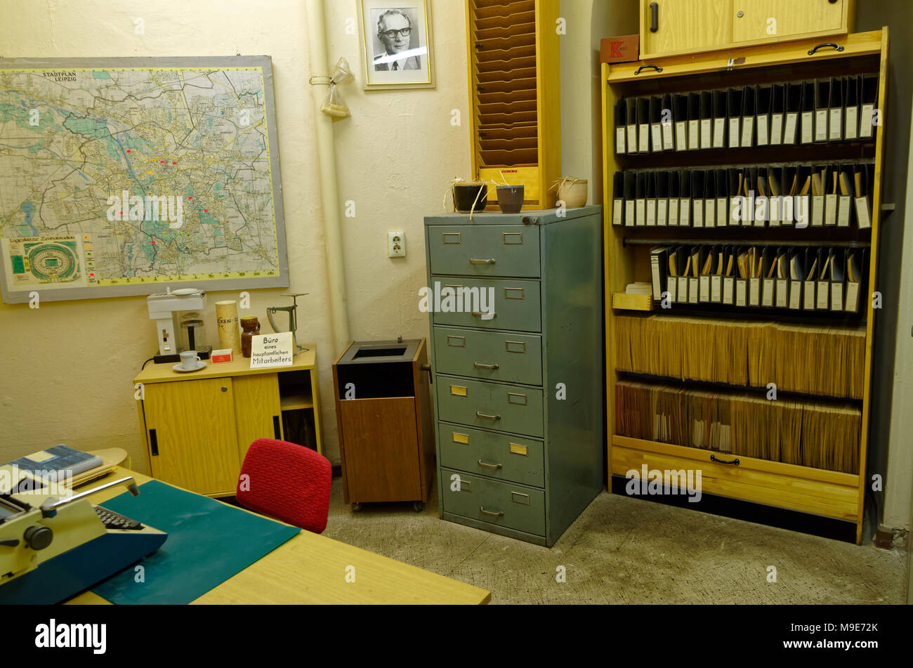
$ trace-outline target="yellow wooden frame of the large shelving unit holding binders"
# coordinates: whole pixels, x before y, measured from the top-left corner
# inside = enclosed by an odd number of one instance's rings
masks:
[[[727,89],[747,85],[763,85],[782,81],[811,80],[827,77],[845,77],[854,74],[876,75],[879,88],[877,109],[884,110],[887,94],[887,27],[880,31],[834,37],[841,47],[836,50],[824,47],[815,50],[823,38],[806,39],[791,43],[744,48],[728,48],[693,56],[654,58],[637,63],[618,65],[603,64],[603,173],[604,200],[604,263],[605,263],[605,324],[606,324],[606,378],[608,418],[608,473],[624,476],[625,472],[640,470],[646,464],[650,469],[698,469],[702,473],[702,490],[705,494],[724,496],[766,506],[799,511],[816,516],[841,520],[846,523],[845,533],[860,542],[863,525],[863,503],[868,481],[866,478],[866,449],[870,414],[870,388],[872,376],[873,331],[876,309],[872,293],[876,287],[878,239],[881,209],[881,170],[884,154],[884,126],[877,127],[871,139],[842,141],[839,143],[812,143],[755,148],[719,148],[697,151],[661,151],[648,153],[618,153],[615,141],[615,107],[619,99],[637,96],[656,96],[710,89]],[[813,53],[811,53],[813,52]],[[793,226],[764,227],[762,229],[710,227],[698,229],[641,227],[613,224],[614,173],[662,168],[699,170],[732,165],[766,165],[777,163],[821,164],[826,162],[874,162],[874,185],[871,192],[871,228],[856,229],[833,227]],[[858,314],[815,314],[802,310],[782,308],[738,309],[727,307],[706,308],[703,305],[678,305],[673,308],[656,308],[651,313],[638,313],[642,303],[624,296],[625,287],[634,282],[651,282],[650,244],[719,244],[719,245],[821,245],[828,247],[866,248],[868,265],[864,271],[867,284],[859,296]],[[866,289],[867,287],[867,289]],[[619,297],[619,295],[621,296]],[[647,377],[619,369],[616,346],[619,337],[619,318],[680,318],[685,316],[714,320],[748,320],[782,323],[784,326],[805,326],[820,329],[823,345],[830,345],[828,328],[836,331],[865,329],[865,365],[861,371],[864,379],[861,392],[856,397],[842,397],[842,401],[855,406],[861,413],[858,442],[858,471],[845,473],[837,470],[787,464],[761,458],[739,456],[739,464],[732,456],[721,456],[719,451],[687,444],[660,443],[658,440],[630,438],[617,431],[616,386],[622,381],[658,382],[682,389],[701,389],[699,383],[679,378]],[[845,333],[844,331],[844,333]],[[834,345],[836,345],[834,339]],[[668,341],[678,345],[677,341]],[[696,355],[706,355],[703,350]],[[709,360],[708,360],[709,363]],[[858,375],[858,374],[857,374]],[[708,381],[712,391],[721,395],[744,393],[745,387],[727,384],[724,379]],[[761,387],[763,383],[761,384]],[[703,389],[707,389],[705,385]],[[753,390],[760,397],[763,394]],[[825,392],[793,394],[788,397],[797,402],[833,402]],[[767,433],[769,440],[776,439]],[[733,449],[733,452],[736,452]],[[854,453],[855,455],[855,453]],[[610,489],[611,489],[610,484]],[[697,505],[699,506],[699,504]],[[696,507],[697,507],[696,506]],[[699,507],[698,507],[699,509]]]

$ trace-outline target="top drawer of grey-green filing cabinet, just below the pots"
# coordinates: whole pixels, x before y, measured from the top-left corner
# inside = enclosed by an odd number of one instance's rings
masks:
[[[428,227],[432,274],[530,277],[539,273],[539,228],[529,225]]]

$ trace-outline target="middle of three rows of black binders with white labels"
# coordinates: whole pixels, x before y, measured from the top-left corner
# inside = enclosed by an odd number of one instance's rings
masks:
[[[872,227],[875,165],[614,172],[612,224],[627,227]]]

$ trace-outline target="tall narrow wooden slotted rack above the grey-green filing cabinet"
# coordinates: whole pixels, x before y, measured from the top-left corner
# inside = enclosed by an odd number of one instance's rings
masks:
[[[473,178],[547,209],[561,178],[558,0],[467,0]],[[494,189],[489,208],[497,208]]]

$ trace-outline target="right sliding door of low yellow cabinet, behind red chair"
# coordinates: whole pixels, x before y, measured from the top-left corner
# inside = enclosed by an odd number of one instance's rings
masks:
[[[277,373],[257,373],[232,379],[235,394],[238,461],[258,438],[282,440],[282,406]]]

